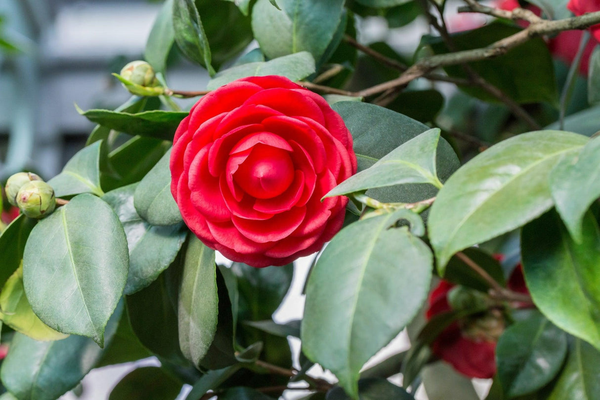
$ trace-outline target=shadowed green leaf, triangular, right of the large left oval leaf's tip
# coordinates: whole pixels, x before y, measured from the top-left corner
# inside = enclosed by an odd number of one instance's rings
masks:
[[[131,323],[129,322],[127,308],[124,307],[115,335],[104,350],[102,358],[97,363],[96,368],[133,362],[151,356],[152,353],[143,347],[136,334],[133,333]]]

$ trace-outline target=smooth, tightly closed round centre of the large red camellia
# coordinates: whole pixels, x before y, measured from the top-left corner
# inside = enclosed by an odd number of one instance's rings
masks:
[[[278,196],[294,179],[289,152],[267,145],[256,145],[233,175],[242,190],[257,199]]]

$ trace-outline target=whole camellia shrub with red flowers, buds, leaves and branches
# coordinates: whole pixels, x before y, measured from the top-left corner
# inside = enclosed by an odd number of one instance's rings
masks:
[[[496,5],[164,1],[85,148],[2,177],[0,399],[150,356],[110,400],[600,399],[600,4]]]

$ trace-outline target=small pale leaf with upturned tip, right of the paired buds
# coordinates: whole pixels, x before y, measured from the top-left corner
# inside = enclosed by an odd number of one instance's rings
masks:
[[[100,141],[81,149],[68,161],[62,172],[48,181],[56,197],[80,193],[102,196],[100,188]]]

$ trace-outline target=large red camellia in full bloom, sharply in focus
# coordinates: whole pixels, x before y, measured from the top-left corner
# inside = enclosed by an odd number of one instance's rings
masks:
[[[170,169],[196,236],[230,260],[265,267],[311,254],[340,230],[347,197],[321,198],[356,172],[356,156],[322,97],[285,77],[247,77],[192,107]]]

